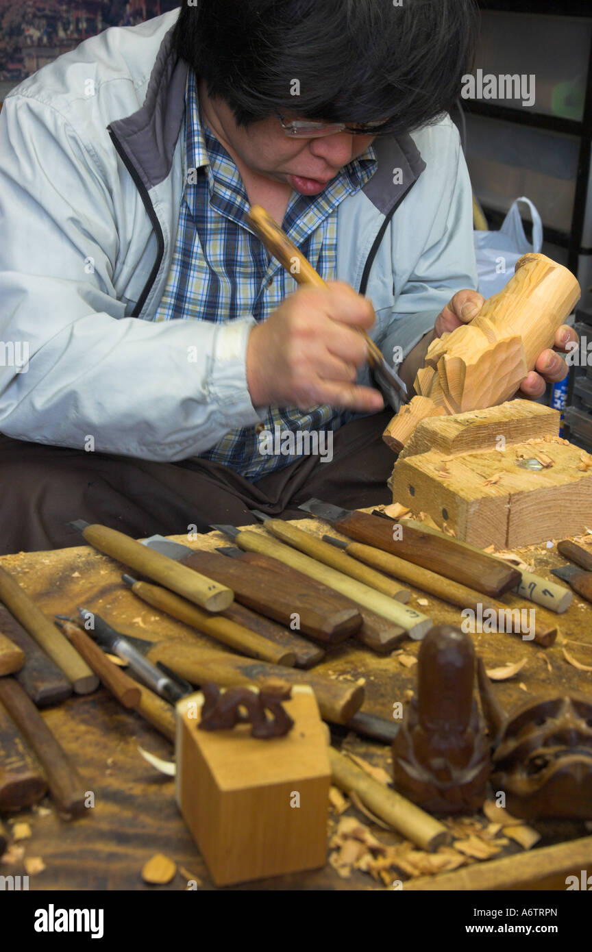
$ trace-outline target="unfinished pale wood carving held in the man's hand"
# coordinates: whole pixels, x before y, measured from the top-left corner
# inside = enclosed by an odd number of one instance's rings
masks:
[[[580,300],[574,275],[543,254],[527,254],[499,294],[468,325],[435,340],[415,378],[418,394],[384,433],[399,452],[420,420],[495,407],[509,400]]]

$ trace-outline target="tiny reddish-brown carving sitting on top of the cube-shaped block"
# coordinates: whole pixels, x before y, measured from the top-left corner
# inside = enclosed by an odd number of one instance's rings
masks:
[[[231,729],[236,724],[252,724],[251,736],[266,740],[284,737],[294,726],[282,702],[288,701],[291,685],[269,680],[259,693],[248,687],[229,687],[224,693],[217,684],[203,684],[204,704],[201,730]],[[266,710],[271,714],[267,718]]]

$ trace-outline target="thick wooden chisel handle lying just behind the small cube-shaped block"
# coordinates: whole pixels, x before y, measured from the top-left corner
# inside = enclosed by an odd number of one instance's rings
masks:
[[[331,681],[311,671],[279,667],[277,664],[253,662],[226,651],[209,651],[192,645],[159,642],[147,657],[162,661],[191,684],[213,681],[225,687],[235,684],[262,684],[269,678],[280,678],[289,684],[309,684],[315,693],[322,716],[334,724],[347,724],[364,704],[365,692],[360,684]]]

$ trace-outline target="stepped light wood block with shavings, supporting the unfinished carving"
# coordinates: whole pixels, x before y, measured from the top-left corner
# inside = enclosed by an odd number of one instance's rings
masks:
[[[523,400],[428,418],[394,466],[393,502],[481,547],[579,535],[592,525],[592,470],[582,469],[578,446],[559,441],[559,421],[556,410]],[[553,465],[524,469],[521,454]]]

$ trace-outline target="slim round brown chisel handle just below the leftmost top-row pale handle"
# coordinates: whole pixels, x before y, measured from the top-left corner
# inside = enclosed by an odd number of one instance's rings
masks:
[[[190,572],[191,569],[187,568],[187,571]],[[131,590],[143,602],[148,602],[148,605],[166,611],[178,621],[203,631],[224,645],[242,651],[249,658],[257,658],[272,664],[285,664],[286,667],[291,667],[296,662],[296,655],[288,647],[276,645],[254,631],[244,628],[243,625],[230,621],[229,618],[208,615],[207,612],[191,605],[174,592],[161,588],[160,585],[136,582],[131,586]]]

